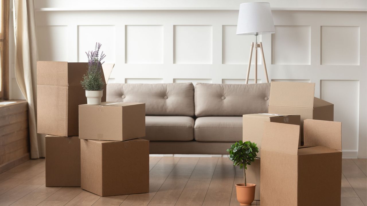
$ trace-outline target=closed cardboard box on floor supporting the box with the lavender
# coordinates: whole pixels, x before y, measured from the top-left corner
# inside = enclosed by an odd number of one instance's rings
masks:
[[[80,140],[81,188],[99,196],[149,192],[149,141]]]

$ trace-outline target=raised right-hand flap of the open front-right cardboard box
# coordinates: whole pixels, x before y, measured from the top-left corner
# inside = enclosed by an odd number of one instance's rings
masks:
[[[342,123],[305,119],[304,143],[309,146],[325,146],[342,150]]]

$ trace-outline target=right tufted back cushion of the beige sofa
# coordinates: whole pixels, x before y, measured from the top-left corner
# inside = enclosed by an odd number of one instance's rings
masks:
[[[195,85],[195,115],[242,116],[267,113],[270,83]]]

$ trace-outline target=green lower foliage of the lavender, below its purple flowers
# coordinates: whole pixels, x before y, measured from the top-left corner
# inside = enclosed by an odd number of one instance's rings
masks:
[[[102,80],[101,69],[89,66],[87,73],[83,75],[83,80],[80,83],[85,90],[102,90],[105,83]]]

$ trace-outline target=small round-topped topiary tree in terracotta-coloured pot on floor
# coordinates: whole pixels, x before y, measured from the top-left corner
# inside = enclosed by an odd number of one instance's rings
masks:
[[[255,161],[259,148],[251,141],[239,141],[227,150],[229,159],[233,161],[233,165],[243,169],[243,183],[236,184],[237,201],[240,205],[251,205],[255,199],[256,184],[246,182],[247,165]]]

